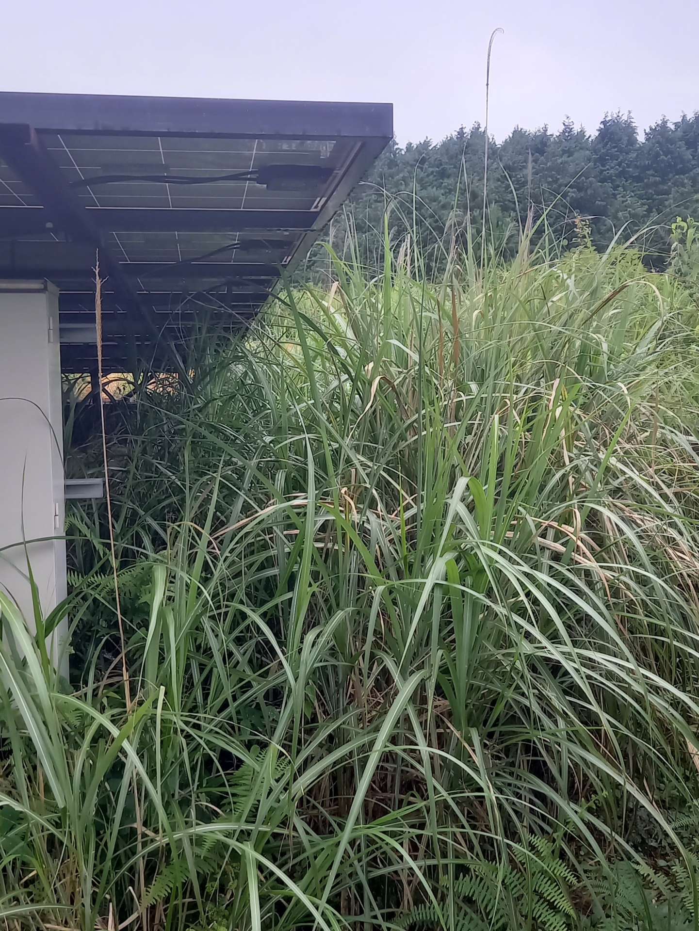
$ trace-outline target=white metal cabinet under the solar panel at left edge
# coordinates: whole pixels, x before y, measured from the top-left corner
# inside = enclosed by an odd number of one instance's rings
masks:
[[[0,280],[0,436],[0,587],[35,632],[28,561],[44,617],[67,587],[59,295],[47,281]],[[47,642],[62,672],[66,633],[67,621]]]

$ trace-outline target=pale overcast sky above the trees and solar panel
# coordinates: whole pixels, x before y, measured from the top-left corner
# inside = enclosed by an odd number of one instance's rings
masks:
[[[482,122],[644,128],[699,108],[699,0],[25,0],[0,89],[392,101],[399,142]]]

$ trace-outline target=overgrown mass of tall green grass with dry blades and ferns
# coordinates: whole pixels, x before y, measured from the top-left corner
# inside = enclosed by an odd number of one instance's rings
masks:
[[[3,600],[5,926],[695,927],[692,283],[334,275],[107,405],[124,655],[103,503],[70,686]]]

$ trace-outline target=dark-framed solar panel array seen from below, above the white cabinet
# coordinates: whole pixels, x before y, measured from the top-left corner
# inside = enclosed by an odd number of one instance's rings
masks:
[[[0,93],[0,279],[60,290],[62,367],[88,371],[99,249],[105,371],[168,364],[249,322],[392,135],[390,104]]]

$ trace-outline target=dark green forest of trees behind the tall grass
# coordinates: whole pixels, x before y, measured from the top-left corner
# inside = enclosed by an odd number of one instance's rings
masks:
[[[379,263],[380,237],[370,231],[381,228],[387,203],[391,236],[416,230],[431,263],[439,261],[431,247],[445,233],[464,243],[469,222],[479,249],[485,138],[476,123],[437,144],[391,144],[356,188],[352,209],[333,222],[335,249],[347,254],[351,223],[362,262]],[[594,135],[570,119],[557,133],[516,127],[504,142],[489,141],[487,204],[489,244],[505,255],[517,249],[528,212],[536,224],[545,209],[545,223],[563,248],[573,241],[576,218],[584,218],[598,247],[617,234],[626,240],[643,231],[639,244],[648,262],[662,266],[669,224],[699,216],[699,114],[676,122],[664,117],[642,139],[632,116],[622,114],[605,115]],[[543,232],[540,223],[535,237]],[[327,261],[315,250],[315,275]]]

